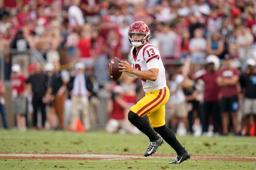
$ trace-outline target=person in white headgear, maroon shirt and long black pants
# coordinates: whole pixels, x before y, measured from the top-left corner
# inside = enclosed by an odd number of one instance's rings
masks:
[[[214,57],[213,57],[214,56]],[[203,97],[203,133],[208,132],[210,124],[209,118],[212,117],[214,132],[220,132],[220,110],[219,110],[219,86],[217,85],[217,77],[220,66],[220,60],[215,55],[209,55],[206,58],[206,72],[196,80],[202,79],[204,82],[204,97]],[[210,133],[210,132],[209,132]],[[209,134],[208,133],[208,134]]]

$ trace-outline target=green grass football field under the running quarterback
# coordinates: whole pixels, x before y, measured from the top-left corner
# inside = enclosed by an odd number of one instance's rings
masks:
[[[0,130],[0,169],[256,169],[256,138],[251,137],[177,137],[191,153],[191,159],[171,165],[175,151],[164,143],[154,156],[143,157],[149,140],[143,134],[107,134],[104,131],[74,133],[67,131]],[[34,160],[9,159],[6,153],[88,153],[132,155],[128,160]],[[206,156],[208,159],[203,159]],[[2,157],[1,157],[2,156]],[[194,157],[193,157],[194,156]],[[237,157],[235,157],[237,156]],[[211,158],[220,158],[220,160]],[[250,161],[243,160],[244,158]]]

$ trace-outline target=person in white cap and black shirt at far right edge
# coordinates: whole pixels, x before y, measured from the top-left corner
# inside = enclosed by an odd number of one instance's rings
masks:
[[[256,122],[256,61],[254,59],[246,60],[247,71],[240,76],[239,82],[244,95],[242,131],[241,134],[249,133],[249,118],[253,117]]]

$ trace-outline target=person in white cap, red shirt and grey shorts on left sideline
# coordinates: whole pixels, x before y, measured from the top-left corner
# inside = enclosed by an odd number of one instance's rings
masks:
[[[26,130],[26,97],[24,96],[25,76],[21,73],[18,64],[11,66],[11,100],[12,111],[15,114],[17,128],[21,131]]]

